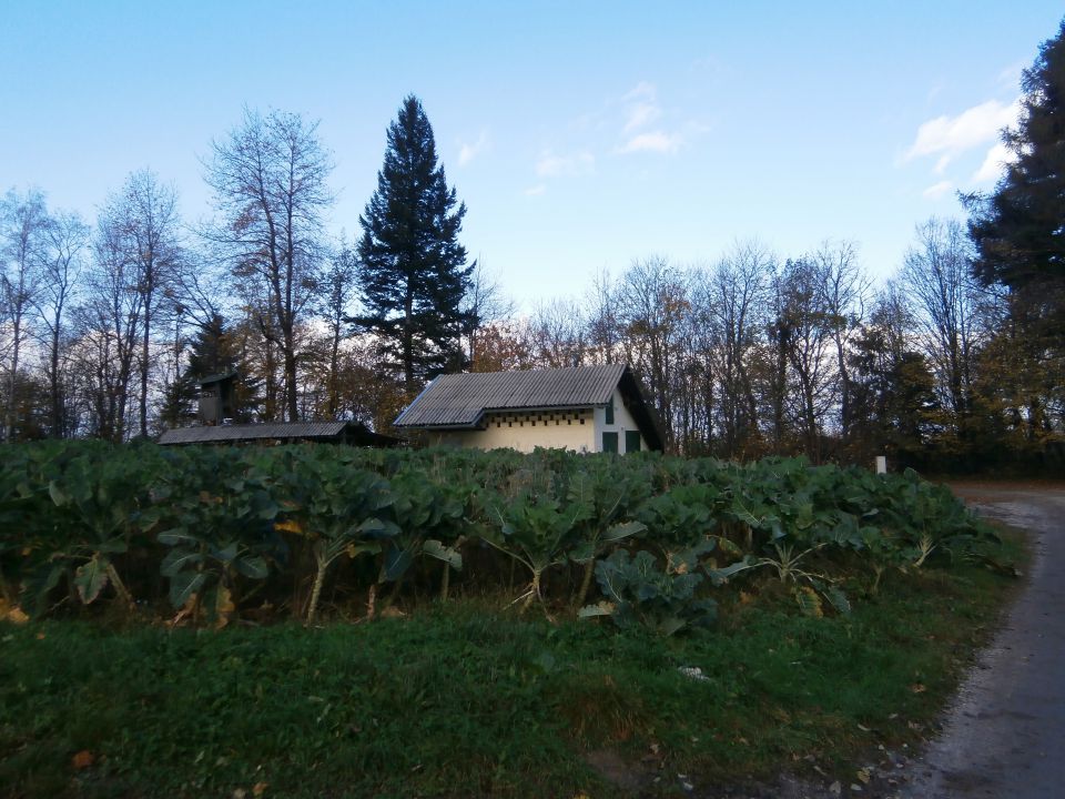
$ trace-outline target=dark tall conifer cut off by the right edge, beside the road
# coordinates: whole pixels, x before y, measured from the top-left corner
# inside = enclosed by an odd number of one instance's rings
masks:
[[[977,374],[982,404],[998,409],[981,433],[984,449],[994,448],[988,434],[998,436],[1022,457],[1035,454],[1030,463],[1042,468],[1061,463],[1058,448],[1041,449],[1065,428],[1065,21],[1043,42],[1021,87],[1017,127],[1003,133],[1014,161],[994,192],[963,200],[976,276],[1010,290],[1008,315],[983,354],[985,374]],[[1004,419],[1012,441],[996,432]]]

